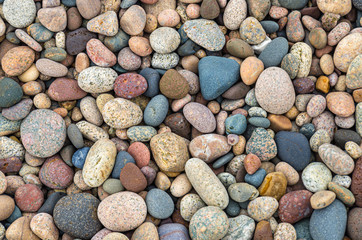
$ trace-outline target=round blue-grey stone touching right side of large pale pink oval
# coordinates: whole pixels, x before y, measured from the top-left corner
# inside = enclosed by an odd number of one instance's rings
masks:
[[[158,188],[154,188],[147,193],[146,205],[148,213],[158,219],[170,217],[174,210],[170,195]]]

